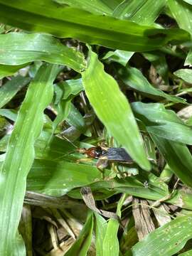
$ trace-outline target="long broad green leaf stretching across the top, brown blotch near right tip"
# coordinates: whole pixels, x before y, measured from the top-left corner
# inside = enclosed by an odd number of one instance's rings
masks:
[[[139,26],[131,21],[60,6],[51,0],[41,0],[41,4],[38,0],[31,0],[30,4],[25,0],[0,0],[0,21],[26,31],[128,51],[153,50],[171,41],[190,40],[189,34],[179,28]]]

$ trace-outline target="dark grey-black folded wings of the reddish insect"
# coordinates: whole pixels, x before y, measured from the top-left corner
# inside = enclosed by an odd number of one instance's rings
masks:
[[[100,159],[105,158],[111,161],[129,161],[132,162],[131,156],[123,148],[108,148],[107,151],[100,156]]]

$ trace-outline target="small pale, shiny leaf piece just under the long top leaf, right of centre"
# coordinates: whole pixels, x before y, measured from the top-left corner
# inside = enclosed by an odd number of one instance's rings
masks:
[[[126,66],[133,54],[134,52],[129,52],[126,50],[114,50],[114,52],[109,51],[102,59],[106,60],[109,58],[110,61],[112,60]]]

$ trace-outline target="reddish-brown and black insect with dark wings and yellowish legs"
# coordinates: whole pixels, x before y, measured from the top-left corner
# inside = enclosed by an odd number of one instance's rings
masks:
[[[132,164],[133,159],[127,151],[123,148],[107,148],[102,146],[92,146],[89,149],[80,148],[77,149],[80,154],[86,154],[91,159],[98,159],[97,169],[104,169],[107,167],[108,162],[120,162],[122,164]],[[80,161],[90,161],[89,159],[79,159]]]

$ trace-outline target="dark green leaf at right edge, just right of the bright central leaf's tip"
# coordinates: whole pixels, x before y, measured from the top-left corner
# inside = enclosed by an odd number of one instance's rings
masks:
[[[174,174],[187,186],[192,187],[192,156],[187,146],[178,142],[171,142],[156,134],[151,134],[151,138]]]

